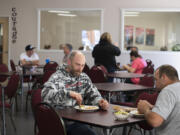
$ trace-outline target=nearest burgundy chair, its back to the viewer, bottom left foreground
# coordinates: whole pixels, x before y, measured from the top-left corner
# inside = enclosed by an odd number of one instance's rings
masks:
[[[35,124],[38,127],[38,135],[66,135],[63,119],[49,104],[38,104],[35,107],[34,116]],[[37,133],[35,132],[35,134]]]

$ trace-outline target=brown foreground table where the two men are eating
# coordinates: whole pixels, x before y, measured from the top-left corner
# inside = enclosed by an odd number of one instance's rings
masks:
[[[107,110],[99,109],[92,112],[83,112],[74,107],[56,108],[56,112],[64,120],[80,122],[103,129],[104,135],[112,135],[113,129],[123,127],[123,135],[127,134],[127,126],[145,121],[142,118],[129,117],[127,120],[116,120],[113,104]]]

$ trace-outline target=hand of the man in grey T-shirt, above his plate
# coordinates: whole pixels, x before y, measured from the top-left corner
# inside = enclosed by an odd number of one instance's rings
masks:
[[[145,114],[146,111],[151,110],[153,108],[153,105],[146,100],[139,100],[137,107],[139,113]]]

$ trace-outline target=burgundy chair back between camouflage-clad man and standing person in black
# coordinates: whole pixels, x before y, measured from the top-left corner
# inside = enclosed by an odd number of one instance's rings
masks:
[[[107,72],[104,66],[94,65],[89,71],[89,77],[93,83],[107,82]]]

